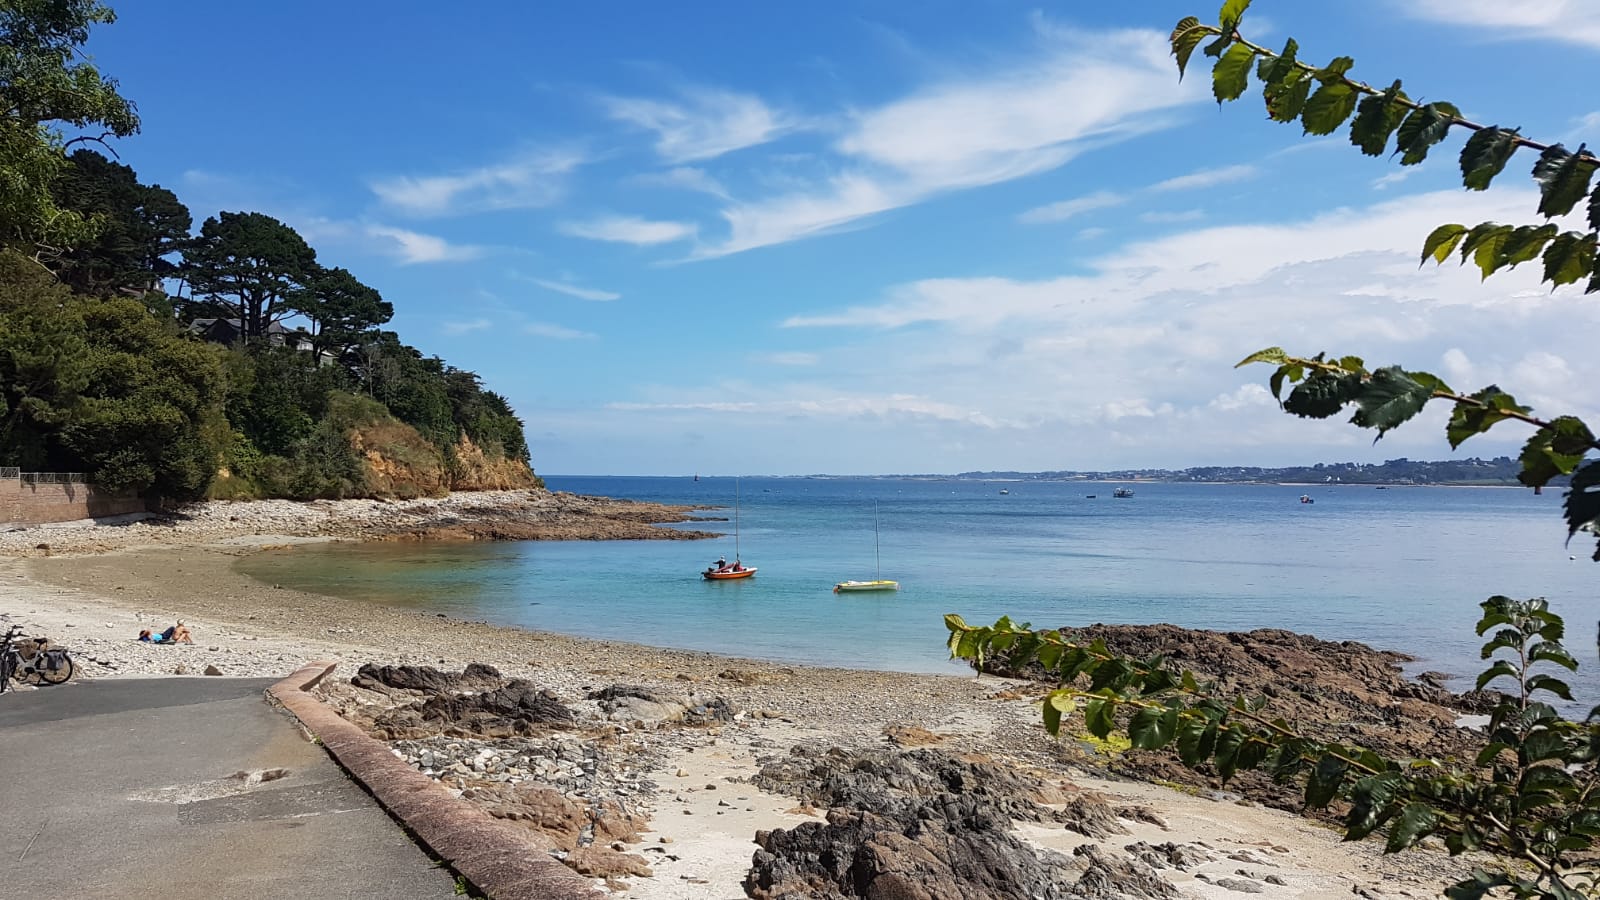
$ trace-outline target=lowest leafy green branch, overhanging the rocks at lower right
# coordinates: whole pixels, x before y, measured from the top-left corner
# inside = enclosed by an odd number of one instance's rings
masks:
[[[1386,834],[1386,852],[1438,838],[1451,855],[1483,850],[1501,871],[1475,870],[1446,892],[1475,900],[1496,889],[1515,897],[1576,900],[1600,889],[1592,855],[1600,836],[1600,706],[1586,722],[1562,717],[1539,700],[1571,700],[1565,682],[1534,673],[1539,663],[1568,671],[1578,661],[1562,647],[1565,626],[1542,599],[1490,597],[1478,634],[1494,631],[1483,658],[1499,653],[1478,689],[1501,679],[1514,692],[1490,716],[1486,743],[1470,764],[1386,759],[1371,749],[1328,743],[1274,717],[1266,698],[1222,698],[1194,673],[1174,671],[1163,657],[1134,660],[1104,641],[1074,641],[1059,629],[1032,629],[1000,618],[970,626],[944,617],[950,657],[979,669],[1005,658],[1011,668],[1043,666],[1059,687],[1042,703],[1045,729],[1061,732],[1064,716],[1082,709],[1091,735],[1126,732],[1136,749],[1174,748],[1190,769],[1210,767],[1224,783],[1262,769],[1280,781],[1304,780],[1306,807],[1341,802],[1347,841]]]

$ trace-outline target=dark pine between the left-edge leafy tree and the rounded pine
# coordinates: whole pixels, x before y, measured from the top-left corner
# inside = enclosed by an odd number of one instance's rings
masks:
[[[98,218],[93,240],[62,253],[51,267],[78,293],[146,293],[178,274],[194,219],[178,195],[94,151],[77,151],[56,179],[56,203]]]

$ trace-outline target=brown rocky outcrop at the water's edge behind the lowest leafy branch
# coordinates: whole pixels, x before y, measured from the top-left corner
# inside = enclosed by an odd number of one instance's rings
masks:
[[[1093,625],[1062,629],[1074,641],[1106,641],[1134,658],[1165,655],[1171,666],[1216,682],[1222,695],[1264,695],[1267,714],[1282,716],[1325,740],[1366,746],[1390,757],[1451,757],[1470,761],[1482,738],[1456,727],[1461,713],[1493,705],[1493,693],[1458,695],[1432,677],[1411,679],[1402,671],[1403,653],[1374,650],[1355,641],[1320,641],[1277,628],[1222,633],[1174,625]],[[1037,665],[1011,669],[990,660],[986,671],[1053,682]],[[1146,780],[1216,786],[1206,769],[1182,765],[1166,751],[1128,751],[1114,756],[1115,772]],[[1296,785],[1278,785],[1261,772],[1242,772],[1229,790],[1278,809],[1299,810]]]

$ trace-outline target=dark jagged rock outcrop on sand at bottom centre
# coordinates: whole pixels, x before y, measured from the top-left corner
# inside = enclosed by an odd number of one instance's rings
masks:
[[[1024,844],[1013,820],[1062,822],[1085,834],[1126,830],[1098,796],[982,757],[795,748],[763,765],[755,783],[830,807],[826,823],[757,833],[744,882],[757,900],[1176,897],[1139,860],[1067,858]]]

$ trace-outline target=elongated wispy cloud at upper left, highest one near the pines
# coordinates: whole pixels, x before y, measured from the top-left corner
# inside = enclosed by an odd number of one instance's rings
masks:
[[[576,151],[539,151],[450,175],[381,178],[370,187],[386,207],[414,216],[549,207],[584,162]]]

